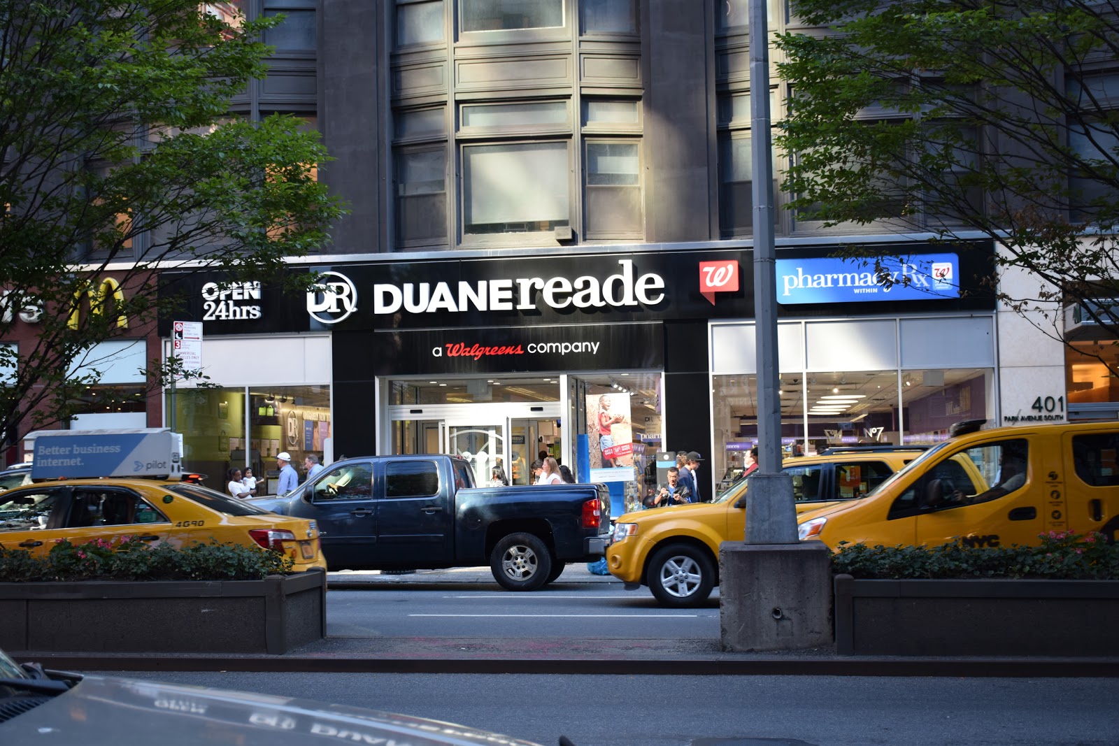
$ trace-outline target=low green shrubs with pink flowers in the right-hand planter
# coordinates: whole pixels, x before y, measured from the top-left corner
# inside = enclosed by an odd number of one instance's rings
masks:
[[[857,578],[1050,578],[1119,579],[1119,545],[1102,533],[1050,531],[1032,547],[969,547],[960,540],[939,547],[867,547],[844,544],[831,556],[835,573]]]

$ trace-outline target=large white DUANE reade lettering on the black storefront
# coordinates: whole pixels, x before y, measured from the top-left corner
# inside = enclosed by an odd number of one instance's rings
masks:
[[[517,277],[458,283],[411,283],[373,286],[373,312],[459,313],[478,311],[533,311],[537,301],[552,309],[657,305],[665,300],[665,278],[655,273],[634,276],[633,261],[619,259],[621,271],[605,280],[583,275],[567,277]]]

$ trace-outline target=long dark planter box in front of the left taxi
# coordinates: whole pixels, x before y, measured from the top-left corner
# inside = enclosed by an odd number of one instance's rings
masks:
[[[0,649],[286,653],[327,633],[327,574],[263,580],[0,583]]]

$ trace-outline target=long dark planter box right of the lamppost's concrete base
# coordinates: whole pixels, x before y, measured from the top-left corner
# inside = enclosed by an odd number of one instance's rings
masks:
[[[835,577],[840,655],[1119,655],[1119,580]]]

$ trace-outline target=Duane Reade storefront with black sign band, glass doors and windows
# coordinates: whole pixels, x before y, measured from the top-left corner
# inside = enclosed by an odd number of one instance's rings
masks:
[[[951,257],[931,257],[904,282],[910,270],[897,267],[888,292],[868,271],[840,278],[850,265],[828,259],[834,252],[780,253],[782,262],[836,263],[822,270],[805,264],[778,282],[789,438],[815,447],[814,440],[828,437],[824,429],[846,432],[862,422],[846,412],[818,422],[818,412],[806,409],[825,381],[839,388],[874,372],[873,386],[892,376],[896,391],[918,380],[933,386],[937,370],[944,371],[944,387],[961,376],[989,381],[991,355],[963,359],[958,342],[966,337],[991,348],[991,301],[956,292],[961,278],[975,284],[988,266],[989,245],[943,249]],[[932,258],[943,266],[934,268]],[[628,506],[655,485],[658,454],[662,462],[664,454],[683,450],[704,455],[700,491],[712,494],[726,470],[741,464],[756,415],[751,262],[749,249],[725,243],[534,256],[377,256],[293,266],[320,277],[316,292],[298,298],[199,274],[173,282],[169,275],[169,291],[173,285],[187,299],[182,320],[204,322],[204,362],[220,386],[216,394],[198,391],[194,413],[177,412],[180,422],[197,421],[191,432],[218,428],[200,444],[216,450],[215,461],[248,457],[266,466],[274,446],[299,463],[307,453],[457,453],[482,483],[499,466],[510,483],[525,484],[543,454],[581,480],[606,482]],[[828,275],[850,295],[827,295]],[[944,287],[918,292],[932,275]],[[899,292],[903,286],[912,292]],[[988,325],[953,327],[951,343],[938,347],[955,350],[938,352],[929,329],[941,329],[946,318]],[[928,323],[919,330],[928,355],[955,357],[916,365],[887,355],[886,348],[900,349],[905,324],[920,319]],[[787,402],[784,389],[797,387],[799,398]],[[982,388],[955,402],[959,412],[971,412],[989,407],[990,396]],[[914,432],[910,406],[903,402],[906,412],[899,414],[910,425],[880,425],[876,416],[864,426],[882,426],[881,440],[906,437]],[[234,421],[232,412],[242,414]],[[236,447],[246,443],[247,456]]]

